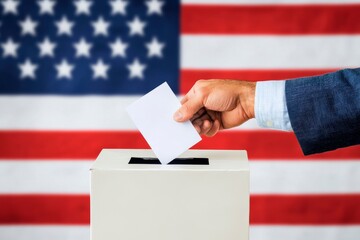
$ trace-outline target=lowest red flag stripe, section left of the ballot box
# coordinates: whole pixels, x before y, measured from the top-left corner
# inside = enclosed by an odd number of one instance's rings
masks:
[[[89,224],[88,195],[0,195],[0,224]]]

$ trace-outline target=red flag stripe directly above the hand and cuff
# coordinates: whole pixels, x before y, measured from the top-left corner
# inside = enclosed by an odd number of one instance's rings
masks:
[[[180,94],[186,94],[199,79],[238,79],[248,81],[280,80],[320,75],[336,69],[288,69],[288,70],[209,70],[182,69],[180,72]]]

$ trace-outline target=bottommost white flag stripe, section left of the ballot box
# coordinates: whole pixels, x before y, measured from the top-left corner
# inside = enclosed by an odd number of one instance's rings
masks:
[[[0,226],[3,240],[89,240],[89,226]]]

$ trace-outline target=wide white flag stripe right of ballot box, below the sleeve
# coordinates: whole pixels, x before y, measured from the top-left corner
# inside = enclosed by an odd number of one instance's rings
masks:
[[[359,193],[360,161],[251,161],[251,193]]]

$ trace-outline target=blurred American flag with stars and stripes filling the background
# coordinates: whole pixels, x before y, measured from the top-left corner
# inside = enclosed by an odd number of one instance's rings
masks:
[[[89,239],[88,169],[148,148],[125,107],[167,81],[274,80],[360,66],[360,0],[2,0],[0,239]],[[360,147],[304,157],[254,120],[251,240],[359,239]]]

